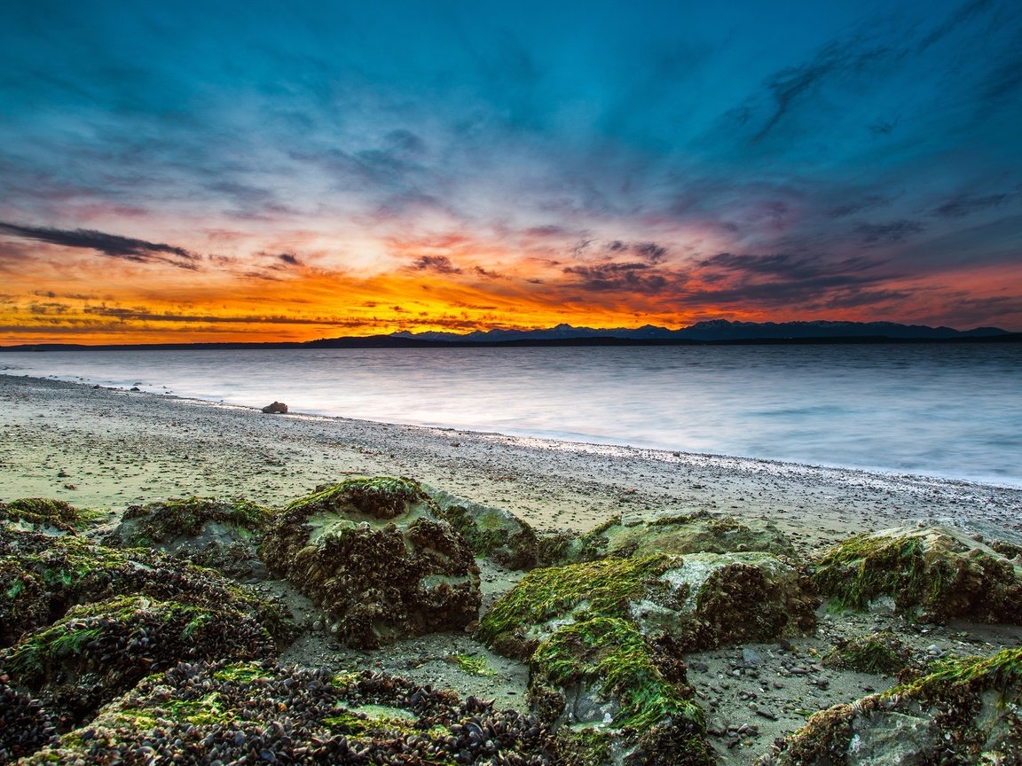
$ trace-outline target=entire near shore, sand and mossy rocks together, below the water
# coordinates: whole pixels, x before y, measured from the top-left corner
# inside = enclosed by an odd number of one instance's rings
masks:
[[[0,763],[1022,763],[1018,489],[0,403]]]

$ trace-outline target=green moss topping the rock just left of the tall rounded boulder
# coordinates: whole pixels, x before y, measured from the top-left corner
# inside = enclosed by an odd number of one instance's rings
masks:
[[[136,542],[140,539],[167,542],[176,537],[198,534],[211,521],[258,532],[266,526],[270,516],[269,509],[246,499],[188,497],[130,506],[124,518],[126,521],[142,520]]]

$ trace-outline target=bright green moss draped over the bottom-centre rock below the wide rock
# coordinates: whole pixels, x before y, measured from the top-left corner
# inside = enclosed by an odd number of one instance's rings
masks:
[[[645,638],[626,620],[593,617],[564,625],[540,644],[529,665],[543,683],[595,682],[601,699],[620,705],[616,727],[642,732],[667,718],[702,726],[702,711],[663,677]]]

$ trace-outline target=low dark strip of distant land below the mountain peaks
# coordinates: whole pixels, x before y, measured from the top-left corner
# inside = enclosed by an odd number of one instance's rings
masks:
[[[323,348],[543,348],[590,346],[947,345],[955,343],[968,345],[1022,343],[1022,333],[951,338],[892,338],[883,335],[862,335],[807,338],[734,338],[727,340],[590,337],[463,341],[426,340],[375,335],[365,338],[334,338],[330,340],[268,343],[24,343],[13,346],[0,346],[0,352],[317,350]]]

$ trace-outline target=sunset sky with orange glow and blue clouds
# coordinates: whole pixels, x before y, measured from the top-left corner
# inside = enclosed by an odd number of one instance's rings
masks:
[[[1022,330],[1018,0],[0,12],[0,343]]]

